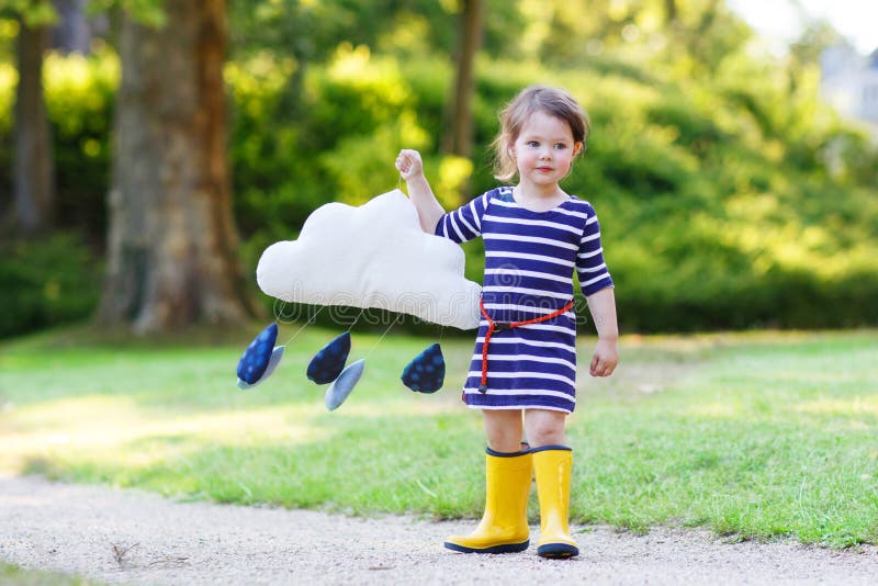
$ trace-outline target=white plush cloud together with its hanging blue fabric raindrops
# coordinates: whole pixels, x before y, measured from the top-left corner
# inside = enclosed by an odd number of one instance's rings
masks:
[[[447,238],[424,233],[408,198],[393,190],[354,207],[329,203],[305,221],[297,240],[268,247],[256,269],[260,289],[273,297],[309,305],[389,309],[461,329],[479,327],[482,289],[463,275],[463,250]],[[267,379],[283,356],[274,347],[278,326],[267,327],[238,364],[238,386]],[[362,376],[365,360],[345,368],[350,352],[346,331],[324,346],[307,377],[330,383],[325,404],[337,409]],[[434,393],[442,386],[444,359],[438,343],[406,365],[410,390]]]

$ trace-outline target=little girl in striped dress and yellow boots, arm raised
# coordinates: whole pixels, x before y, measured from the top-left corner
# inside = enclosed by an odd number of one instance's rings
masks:
[[[500,123],[495,177],[517,176],[518,183],[451,213],[436,200],[417,151],[404,149],[396,159],[425,232],[457,243],[481,236],[485,244],[483,319],[463,386],[463,401],[482,410],[487,436],[485,511],[472,533],[444,545],[475,553],[526,550],[536,476],[537,553],[570,557],[579,553],[569,529],[573,452],[564,443],[576,402],[574,269],[598,333],[590,374],[609,376],[618,362],[616,302],[597,215],[559,185],[585,150],[589,124],[567,92],[541,86],[522,90]]]

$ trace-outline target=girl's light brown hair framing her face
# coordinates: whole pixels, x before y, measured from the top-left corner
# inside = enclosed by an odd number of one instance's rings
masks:
[[[588,114],[576,100],[560,88],[528,86],[499,113],[500,132],[492,143],[494,147],[494,178],[509,181],[518,172],[515,159],[509,154],[518,139],[521,128],[536,112],[544,112],[570,125],[574,143],[581,143],[577,156],[585,153],[585,140],[592,131]]]

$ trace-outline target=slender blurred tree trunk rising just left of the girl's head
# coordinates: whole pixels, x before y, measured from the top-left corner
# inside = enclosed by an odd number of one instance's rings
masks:
[[[457,78],[451,100],[451,123],[443,150],[461,157],[473,154],[473,92],[475,55],[482,44],[483,0],[463,0],[458,44]]]

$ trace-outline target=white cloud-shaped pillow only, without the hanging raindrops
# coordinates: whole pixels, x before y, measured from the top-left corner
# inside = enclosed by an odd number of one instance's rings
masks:
[[[297,240],[262,252],[256,279],[288,302],[389,309],[472,329],[482,288],[463,267],[460,246],[421,230],[415,206],[393,190],[359,207],[322,205]]]

